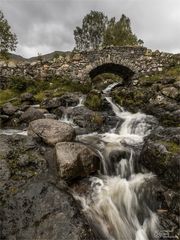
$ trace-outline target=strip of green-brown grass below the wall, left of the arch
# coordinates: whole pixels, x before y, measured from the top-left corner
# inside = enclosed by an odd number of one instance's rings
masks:
[[[10,79],[9,88],[0,90],[0,106],[16,98],[13,103],[20,104],[19,96],[24,92],[30,92],[34,95],[37,102],[41,102],[48,96],[57,97],[67,92],[88,93],[91,90],[91,84],[86,82],[70,81],[66,77],[51,77],[48,80],[33,80],[22,76],[13,76]]]

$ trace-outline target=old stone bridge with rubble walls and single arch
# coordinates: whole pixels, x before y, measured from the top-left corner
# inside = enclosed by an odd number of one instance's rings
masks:
[[[162,71],[164,67],[173,65],[174,56],[144,47],[108,47],[97,51],[71,52],[49,61],[0,62],[0,79],[2,82],[2,79],[15,75],[35,79],[66,76],[83,82],[100,73],[110,72],[130,80],[141,74]]]

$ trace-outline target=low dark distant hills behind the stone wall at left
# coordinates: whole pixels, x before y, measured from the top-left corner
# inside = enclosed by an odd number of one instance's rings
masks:
[[[62,51],[54,51],[52,53],[48,53],[48,54],[44,54],[44,55],[41,55],[41,58],[43,60],[51,60],[55,57],[58,57],[59,56],[65,56],[66,54],[70,53],[70,51],[67,51],[67,52],[62,52]],[[13,53],[10,53],[10,60],[13,60],[15,62],[22,62],[22,61],[30,61],[30,62],[33,62],[33,61],[36,61],[38,60],[39,56],[35,56],[35,57],[31,57],[31,58],[24,58],[20,55],[16,55],[16,54],[13,54]]]

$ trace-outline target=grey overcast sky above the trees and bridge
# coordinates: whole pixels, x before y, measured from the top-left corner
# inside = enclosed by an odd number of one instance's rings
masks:
[[[24,57],[72,50],[73,30],[90,10],[116,19],[124,13],[146,47],[180,53],[180,0],[0,0],[0,9]]]

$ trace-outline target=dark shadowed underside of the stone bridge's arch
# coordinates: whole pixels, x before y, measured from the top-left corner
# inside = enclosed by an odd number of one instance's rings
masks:
[[[89,72],[91,79],[95,78],[99,74],[112,73],[120,76],[123,80],[129,82],[132,76],[135,74],[130,68],[120,64],[106,63],[100,65]]]

